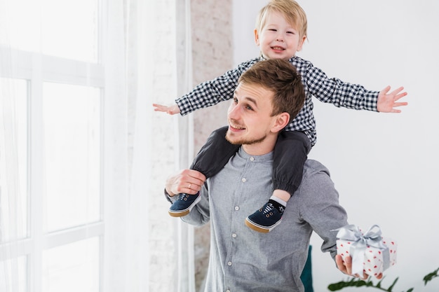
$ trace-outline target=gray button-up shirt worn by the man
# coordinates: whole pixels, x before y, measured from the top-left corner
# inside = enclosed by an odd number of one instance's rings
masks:
[[[280,225],[269,233],[245,226],[245,218],[271,196],[272,164],[273,153],[253,156],[241,147],[206,181],[201,202],[182,217],[193,225],[210,221],[206,292],[304,291],[300,274],[313,231],[323,239],[322,251],[337,253],[337,232],[331,230],[347,224],[346,211],[328,170],[315,160],[306,161],[302,184]]]

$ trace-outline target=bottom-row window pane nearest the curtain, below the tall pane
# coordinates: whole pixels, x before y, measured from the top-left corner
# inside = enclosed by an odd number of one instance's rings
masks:
[[[43,251],[43,291],[99,292],[99,238]]]

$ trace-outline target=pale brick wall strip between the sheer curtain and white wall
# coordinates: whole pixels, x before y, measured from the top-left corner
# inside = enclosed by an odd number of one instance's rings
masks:
[[[191,3],[194,85],[232,68],[231,0],[193,0]],[[194,148],[198,151],[212,130],[227,125],[229,102],[194,113]],[[195,153],[194,153],[195,154]],[[195,277],[199,291],[207,271],[209,225],[195,229]]]

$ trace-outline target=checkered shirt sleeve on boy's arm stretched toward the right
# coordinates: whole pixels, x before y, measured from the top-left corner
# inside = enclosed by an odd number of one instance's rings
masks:
[[[377,111],[378,91],[366,90],[362,85],[329,78],[322,70],[309,63],[306,86],[320,102],[347,109]]]

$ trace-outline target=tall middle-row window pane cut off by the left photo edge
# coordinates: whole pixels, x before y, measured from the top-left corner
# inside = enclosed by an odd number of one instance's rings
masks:
[[[27,81],[0,78],[0,242],[27,237]]]

